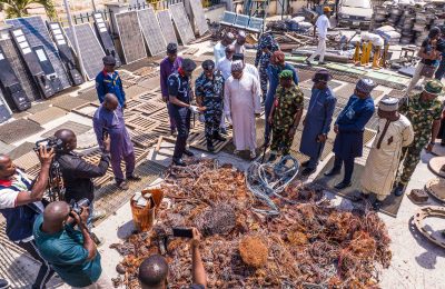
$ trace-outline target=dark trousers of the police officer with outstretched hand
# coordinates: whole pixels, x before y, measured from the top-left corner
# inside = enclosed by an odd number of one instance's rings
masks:
[[[176,121],[176,129],[178,136],[176,137],[174,160],[182,158],[182,153],[186,150],[187,139],[190,131],[190,118],[191,111],[188,108],[178,108],[174,106],[171,114]]]

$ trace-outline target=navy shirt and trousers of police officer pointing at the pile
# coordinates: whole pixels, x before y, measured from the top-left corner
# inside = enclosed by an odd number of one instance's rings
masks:
[[[168,96],[176,97],[178,100],[190,103],[191,101],[191,86],[190,79],[175,72],[168,77],[167,80]],[[174,159],[179,160],[186,150],[187,138],[190,131],[190,117],[191,111],[189,108],[179,107],[171,103],[171,117],[176,121],[178,136],[176,138]]]

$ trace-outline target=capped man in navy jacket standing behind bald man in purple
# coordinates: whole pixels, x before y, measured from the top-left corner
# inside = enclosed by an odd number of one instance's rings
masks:
[[[102,58],[103,70],[96,77],[96,90],[100,103],[103,102],[107,93],[115,94],[119,100],[119,106],[127,108],[126,94],[122,87],[122,80],[118,71],[115,70],[116,59],[112,56]]]

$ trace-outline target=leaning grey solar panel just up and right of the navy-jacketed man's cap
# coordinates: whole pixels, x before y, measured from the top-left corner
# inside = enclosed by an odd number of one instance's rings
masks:
[[[142,33],[140,32],[136,11],[116,14],[120,43],[122,44],[126,63],[132,63],[147,57]]]

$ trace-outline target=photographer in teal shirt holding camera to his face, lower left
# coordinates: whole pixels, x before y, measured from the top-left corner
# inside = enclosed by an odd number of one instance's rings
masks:
[[[102,273],[100,253],[87,228],[88,217],[88,207],[82,207],[79,216],[63,201],[51,202],[36,219],[36,245],[43,259],[72,288],[109,289],[112,285]]]

